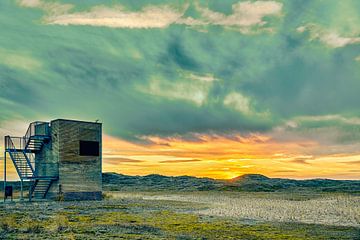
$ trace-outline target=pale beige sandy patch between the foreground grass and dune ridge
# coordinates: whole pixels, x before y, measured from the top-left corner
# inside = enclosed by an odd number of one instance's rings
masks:
[[[202,203],[205,209],[194,210],[201,215],[360,227],[360,196],[320,195],[293,200],[271,193],[112,193],[112,196]]]

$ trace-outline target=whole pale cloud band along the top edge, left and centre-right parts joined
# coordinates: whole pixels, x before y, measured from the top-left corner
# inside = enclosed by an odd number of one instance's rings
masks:
[[[282,3],[276,1],[245,1],[232,5],[233,13],[225,15],[212,11],[195,3],[200,13],[198,19],[186,17],[184,14],[189,4],[179,9],[170,5],[143,7],[139,11],[128,11],[122,5],[94,6],[87,11],[70,11],[74,5],[57,2],[46,3],[42,0],[21,0],[20,6],[40,8],[46,12],[44,22],[56,25],[89,25],[112,28],[166,28],[171,24],[187,26],[216,25],[233,27],[244,33],[251,27],[262,27],[267,24],[266,16],[279,16]]]

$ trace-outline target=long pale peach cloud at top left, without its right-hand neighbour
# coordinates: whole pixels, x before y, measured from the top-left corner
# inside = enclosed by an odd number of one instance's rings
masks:
[[[54,25],[89,25],[112,28],[165,28],[176,22],[186,10],[168,5],[148,6],[137,12],[125,10],[122,5],[94,6],[87,11],[71,11],[74,5],[42,0],[22,0],[20,6],[40,8],[46,12],[44,22]]]

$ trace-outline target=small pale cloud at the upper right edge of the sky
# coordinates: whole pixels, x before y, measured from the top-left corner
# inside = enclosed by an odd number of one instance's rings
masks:
[[[337,32],[325,30],[315,24],[300,26],[296,30],[300,33],[309,32],[310,41],[319,40],[331,48],[340,48],[360,43],[360,37],[343,37]]]

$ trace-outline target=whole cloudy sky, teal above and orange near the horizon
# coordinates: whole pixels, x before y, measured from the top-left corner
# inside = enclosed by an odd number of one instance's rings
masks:
[[[1,0],[0,135],[100,120],[105,172],[360,179],[359,9]]]

